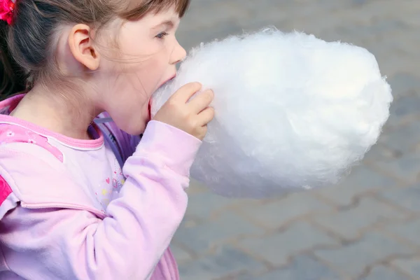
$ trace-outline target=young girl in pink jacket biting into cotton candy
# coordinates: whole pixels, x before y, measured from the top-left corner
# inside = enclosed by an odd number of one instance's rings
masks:
[[[0,279],[179,279],[168,246],[213,92],[185,85],[153,120],[149,100],[186,55],[188,4],[0,0],[3,90],[28,84],[0,103]]]

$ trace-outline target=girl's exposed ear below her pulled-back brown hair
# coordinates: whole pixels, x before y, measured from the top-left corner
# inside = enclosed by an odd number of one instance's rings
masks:
[[[69,47],[73,57],[90,70],[99,67],[99,53],[90,38],[90,27],[75,25],[69,34]]]

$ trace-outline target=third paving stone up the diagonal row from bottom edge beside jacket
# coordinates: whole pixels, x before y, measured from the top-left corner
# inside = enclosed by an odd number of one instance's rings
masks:
[[[355,239],[360,232],[375,223],[398,221],[398,219],[404,217],[405,215],[402,212],[395,210],[388,204],[365,197],[360,200],[360,204],[356,207],[338,211],[328,216],[319,215],[314,218],[314,221],[340,237]]]

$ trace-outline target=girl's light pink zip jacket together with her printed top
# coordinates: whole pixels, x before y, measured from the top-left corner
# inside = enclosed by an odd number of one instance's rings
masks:
[[[0,279],[179,279],[168,247],[201,141],[151,121],[121,170],[105,130],[7,116],[20,98],[0,102]]]

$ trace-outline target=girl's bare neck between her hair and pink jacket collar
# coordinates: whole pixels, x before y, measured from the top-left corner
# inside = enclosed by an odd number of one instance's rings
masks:
[[[92,102],[65,98],[75,95],[75,92],[48,92],[35,86],[10,115],[66,137],[90,139],[87,128],[97,113],[94,113]]]

